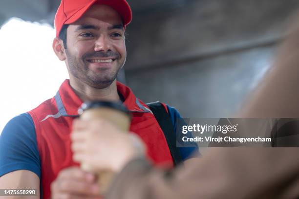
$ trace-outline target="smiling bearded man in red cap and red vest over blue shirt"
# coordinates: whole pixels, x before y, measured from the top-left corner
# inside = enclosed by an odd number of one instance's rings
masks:
[[[72,159],[72,121],[83,101],[123,101],[132,114],[130,132],[146,143],[155,164],[172,163],[168,143],[149,107],[116,81],[126,60],[126,0],[62,0],[55,17],[53,49],[65,61],[70,80],[56,96],[8,122],[0,137],[0,188],[36,188],[54,198],[98,197],[92,174]],[[165,105],[173,127],[180,117]],[[175,137],[175,135],[173,135]],[[184,160],[197,148],[181,149]],[[56,197],[57,196],[57,197]]]

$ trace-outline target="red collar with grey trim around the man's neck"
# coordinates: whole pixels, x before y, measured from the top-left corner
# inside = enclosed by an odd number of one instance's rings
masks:
[[[123,104],[128,108],[129,112],[134,113],[150,113],[143,102],[137,99],[132,90],[117,81],[117,91],[123,95],[125,101]],[[69,80],[64,80],[58,92],[55,95],[55,101],[59,113],[66,117],[78,117],[78,108],[83,101],[76,95],[74,90],[69,84]]]

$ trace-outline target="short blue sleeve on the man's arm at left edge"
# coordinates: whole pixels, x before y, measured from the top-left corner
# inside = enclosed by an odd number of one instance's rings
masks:
[[[29,170],[41,179],[41,161],[35,127],[27,113],[11,119],[0,135],[0,176]]]

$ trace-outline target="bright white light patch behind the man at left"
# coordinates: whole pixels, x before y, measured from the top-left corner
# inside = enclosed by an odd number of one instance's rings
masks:
[[[0,133],[13,117],[52,98],[68,78],[52,49],[55,30],[47,24],[11,19],[0,29]]]

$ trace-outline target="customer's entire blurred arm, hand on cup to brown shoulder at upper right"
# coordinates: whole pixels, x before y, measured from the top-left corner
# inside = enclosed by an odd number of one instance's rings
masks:
[[[297,26],[240,117],[299,115],[298,46]],[[85,132],[93,133],[81,136]],[[188,169],[166,172],[152,167],[143,150],[135,147],[140,140],[132,141],[113,125],[98,128],[77,121],[72,139],[74,159],[89,161],[97,169],[120,172],[108,199],[299,198],[299,148],[214,148]]]

